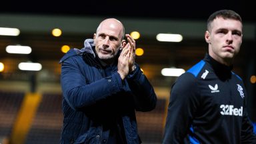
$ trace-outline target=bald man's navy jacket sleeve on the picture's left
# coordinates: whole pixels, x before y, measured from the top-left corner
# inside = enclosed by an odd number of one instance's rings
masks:
[[[110,95],[124,91],[119,73],[103,78],[92,77],[93,81],[88,82],[84,76],[86,73],[81,72],[85,66],[88,65],[84,65],[83,58],[78,55],[62,61],[61,88],[65,100],[72,109],[78,110],[93,105]],[[87,71],[87,73],[99,75],[95,74],[95,71]]]

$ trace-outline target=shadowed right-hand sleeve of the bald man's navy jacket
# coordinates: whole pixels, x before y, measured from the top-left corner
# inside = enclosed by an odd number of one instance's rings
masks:
[[[137,111],[151,111],[155,109],[157,96],[149,83],[147,77],[143,74],[139,65],[136,65],[135,71],[127,76],[129,89],[133,95],[135,109]]]

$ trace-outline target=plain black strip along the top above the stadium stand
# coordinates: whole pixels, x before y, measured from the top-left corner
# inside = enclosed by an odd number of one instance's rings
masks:
[[[205,20],[219,9],[232,9],[243,21],[255,22],[252,1],[1,1],[2,13],[143,17],[151,19]]]

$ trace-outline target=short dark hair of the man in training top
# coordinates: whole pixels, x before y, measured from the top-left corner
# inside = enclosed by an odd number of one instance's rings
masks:
[[[222,9],[219,11],[215,11],[213,14],[209,16],[207,19],[207,30],[211,29],[211,22],[213,22],[214,19],[217,17],[222,17],[223,19],[235,19],[237,21],[241,21],[242,23],[242,18],[238,13],[235,11],[229,10],[229,9]]]

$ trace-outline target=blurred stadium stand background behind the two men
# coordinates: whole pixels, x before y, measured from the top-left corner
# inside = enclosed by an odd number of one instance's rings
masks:
[[[68,8],[65,4],[66,9],[55,9],[56,2],[51,6],[39,3],[40,7],[34,5],[25,9],[17,7],[19,4],[24,6],[23,2],[17,2],[12,9],[3,7],[0,27],[17,28],[20,33],[17,36],[0,35],[0,64],[3,65],[0,72],[0,143],[59,143],[63,121],[59,83],[59,59],[64,55],[61,48],[63,45],[82,48],[83,41],[92,38],[99,23],[108,17],[122,21],[126,33],[139,32],[136,45],[143,53],[137,55],[136,61],[159,99],[155,110],[137,112],[143,143],[161,143],[163,136],[169,92],[177,77],[163,76],[161,69],[176,67],[186,71],[204,57],[206,20],[219,9],[233,9],[243,18],[243,44],[235,59],[234,71],[245,82],[249,116],[256,122],[255,9],[241,1],[232,1],[232,5],[215,1],[211,9],[204,3],[200,4],[204,7],[197,6],[196,2],[184,3],[186,5],[147,3],[146,8],[138,2],[130,7],[105,1],[101,5],[72,3]],[[118,9],[115,11],[113,7]],[[61,30],[61,35],[53,36],[53,29]],[[180,34],[183,40],[179,43],[157,41],[158,33]],[[25,45],[32,51],[27,55],[7,53],[8,45]],[[21,62],[40,63],[42,68],[23,71],[19,69]]]

